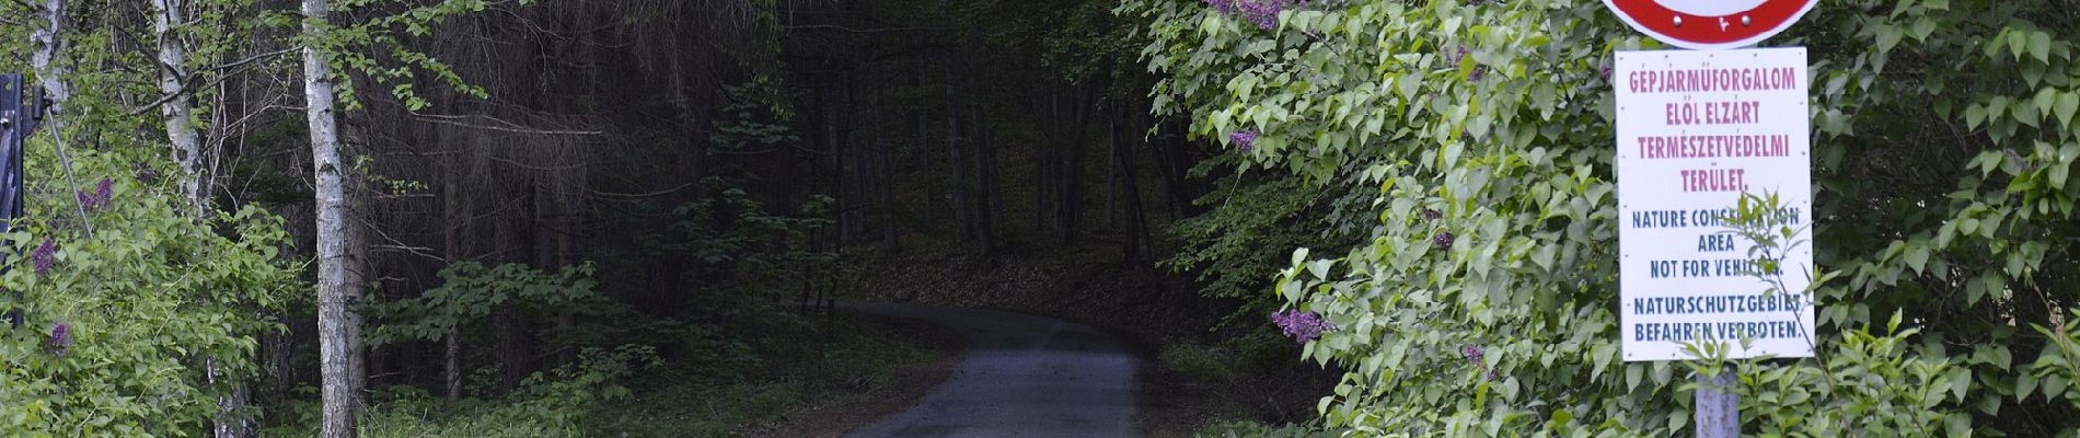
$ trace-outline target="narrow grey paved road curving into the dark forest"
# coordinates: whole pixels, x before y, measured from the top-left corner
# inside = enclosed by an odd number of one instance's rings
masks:
[[[1092,326],[1011,311],[855,303],[853,311],[946,326],[967,343],[959,369],[915,407],[851,438],[1138,436],[1138,359]]]

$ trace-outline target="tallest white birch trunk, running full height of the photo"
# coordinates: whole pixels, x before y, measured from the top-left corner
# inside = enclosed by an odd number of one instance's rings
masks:
[[[304,35],[322,42],[327,0],[304,0]],[[349,355],[354,353],[347,297],[347,203],[339,164],[337,120],[333,114],[331,64],[314,46],[304,46],[304,116],[310,122],[310,160],[316,174],[318,226],[318,374],[322,438],[354,438],[354,384]]]

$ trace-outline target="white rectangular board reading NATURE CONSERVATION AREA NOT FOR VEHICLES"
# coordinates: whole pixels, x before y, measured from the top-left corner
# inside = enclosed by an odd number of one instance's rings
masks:
[[[1624,361],[1812,357],[1805,48],[1618,52],[1612,83]],[[1722,222],[1743,193],[1778,195],[1808,243],[1778,255],[1778,293]]]

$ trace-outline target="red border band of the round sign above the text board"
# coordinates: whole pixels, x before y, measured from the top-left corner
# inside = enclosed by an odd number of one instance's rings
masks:
[[[1654,0],[1604,0],[1612,10],[1624,15],[1633,29],[1685,48],[1728,46],[1774,35],[1791,27],[1814,2],[1818,0],[1766,0],[1747,12],[1699,17],[1676,12]],[[1749,23],[1741,25],[1741,17],[1747,17]],[[1683,25],[1676,25],[1676,19]],[[1724,29],[1720,19],[1724,19]]]

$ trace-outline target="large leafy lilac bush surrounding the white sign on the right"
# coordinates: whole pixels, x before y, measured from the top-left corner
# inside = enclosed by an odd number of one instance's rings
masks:
[[[1127,0],[1163,114],[1244,172],[1377,187],[1350,251],[1296,251],[1354,436],[1689,434],[1689,367],[1618,359],[1602,2]],[[1208,6],[1211,4],[1211,6]],[[1812,54],[1816,359],[1737,361],[1770,436],[2072,436],[2080,35],[2057,2],[1822,2]],[[1941,31],[1939,31],[1941,29]],[[1887,320],[1897,316],[1895,320]],[[2040,328],[2040,330],[2032,330]],[[2024,359],[2018,359],[2024,357]],[[2026,357],[2038,357],[2034,363]],[[2049,376],[2059,376],[2049,380]]]

